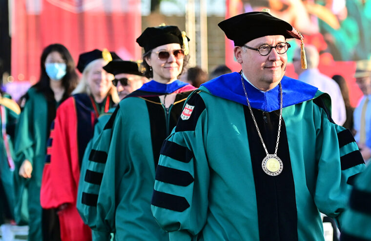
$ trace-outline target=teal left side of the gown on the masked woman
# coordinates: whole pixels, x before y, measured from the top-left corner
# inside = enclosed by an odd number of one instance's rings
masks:
[[[29,214],[29,235],[28,240],[42,240],[41,217],[42,209],[40,205],[40,189],[42,170],[46,155],[47,133],[50,128],[47,126],[47,100],[44,95],[30,88],[27,92],[28,99],[21,111],[17,130],[16,130],[16,222],[22,222]],[[32,163],[32,174],[29,180],[18,175],[19,168],[24,160]],[[25,192],[27,190],[27,192]],[[27,195],[28,193],[29,195]],[[27,200],[27,207],[24,201]],[[23,204],[23,205],[22,205]],[[26,209],[25,209],[26,208]]]

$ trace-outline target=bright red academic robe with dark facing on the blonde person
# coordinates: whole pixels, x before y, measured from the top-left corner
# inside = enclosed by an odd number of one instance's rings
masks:
[[[105,111],[110,107],[109,102],[107,97]],[[78,94],[61,104],[52,125],[40,201],[43,208],[66,205],[58,213],[62,241],[91,241],[91,229],[77,211],[76,198],[82,156],[92,138],[97,116],[94,101]]]

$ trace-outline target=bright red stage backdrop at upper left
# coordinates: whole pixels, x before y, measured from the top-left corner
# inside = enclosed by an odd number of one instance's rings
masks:
[[[44,47],[62,43],[76,64],[95,48],[139,60],[140,0],[14,0],[11,4],[12,71],[15,80],[35,83]]]

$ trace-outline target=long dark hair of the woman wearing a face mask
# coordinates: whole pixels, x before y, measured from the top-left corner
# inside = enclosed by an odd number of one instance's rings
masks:
[[[64,47],[62,44],[54,43],[48,45],[41,54],[40,66],[41,66],[41,74],[39,82],[37,82],[33,87],[37,90],[42,92],[48,100],[54,99],[54,93],[50,88],[50,79],[45,71],[45,60],[46,57],[51,52],[58,52],[62,55],[62,59],[66,62],[66,74],[62,78],[62,86],[64,88],[64,93],[62,100],[67,99],[71,92],[75,89],[77,83],[79,82],[79,77],[76,74],[75,70],[75,61],[72,59],[72,56],[68,49]]]

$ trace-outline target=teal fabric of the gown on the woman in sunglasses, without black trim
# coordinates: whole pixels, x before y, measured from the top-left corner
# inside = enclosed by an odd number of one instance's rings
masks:
[[[172,111],[180,112],[185,100],[176,101],[166,115],[179,116],[180,113]],[[113,232],[116,241],[168,240],[168,234],[156,223],[150,209],[155,160],[148,104],[159,106],[159,115],[164,115],[159,100],[154,103],[142,97],[129,97],[120,102],[92,147],[107,153],[106,163],[89,161],[87,167],[103,173],[101,185],[80,187],[84,192],[98,194],[96,207],[78,204],[83,220],[93,230]],[[167,131],[170,133],[171,129]]]

